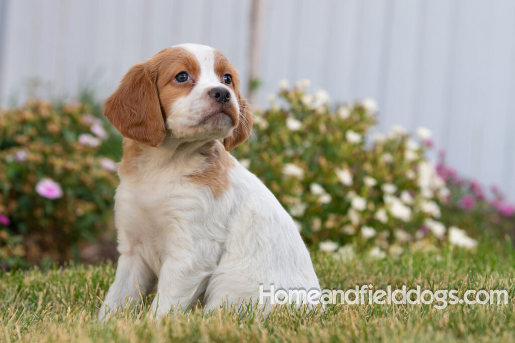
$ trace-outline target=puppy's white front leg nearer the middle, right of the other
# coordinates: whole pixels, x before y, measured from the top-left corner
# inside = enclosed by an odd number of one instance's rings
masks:
[[[181,254],[180,254],[181,255]],[[202,281],[209,273],[195,259],[168,257],[164,260],[159,273],[157,294],[152,301],[152,314],[156,320],[163,318],[173,306],[182,310],[190,308],[198,295]]]

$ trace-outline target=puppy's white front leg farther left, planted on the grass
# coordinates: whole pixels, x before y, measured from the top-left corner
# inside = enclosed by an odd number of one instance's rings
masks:
[[[139,299],[155,285],[156,276],[135,252],[126,252],[118,258],[114,282],[109,287],[106,300],[98,313],[98,322],[104,321],[108,313],[123,309],[127,300]]]

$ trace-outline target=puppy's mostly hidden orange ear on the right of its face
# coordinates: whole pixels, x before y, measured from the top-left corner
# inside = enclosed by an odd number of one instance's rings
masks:
[[[236,99],[238,100],[239,116],[238,124],[232,131],[232,135],[224,139],[224,147],[227,151],[231,151],[241,143],[249,138],[252,133],[252,113],[250,113],[250,106],[247,100],[242,96],[239,90],[239,79],[233,77],[234,92],[236,93]]]

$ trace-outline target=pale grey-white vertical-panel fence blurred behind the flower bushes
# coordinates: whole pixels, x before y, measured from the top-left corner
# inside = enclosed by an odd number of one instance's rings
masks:
[[[101,101],[183,42],[224,52],[243,84],[258,76],[256,105],[281,79],[374,98],[378,130],[424,125],[451,165],[515,198],[512,0],[0,0],[0,104],[81,88]]]

